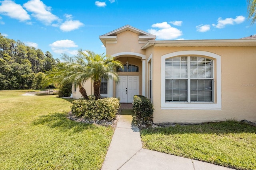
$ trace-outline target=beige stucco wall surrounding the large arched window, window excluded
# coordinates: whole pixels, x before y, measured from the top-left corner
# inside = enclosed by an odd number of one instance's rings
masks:
[[[161,109],[161,56],[187,50],[209,51],[221,56],[221,110]],[[154,47],[152,61],[154,123],[200,123],[226,119],[256,121],[255,47]]]

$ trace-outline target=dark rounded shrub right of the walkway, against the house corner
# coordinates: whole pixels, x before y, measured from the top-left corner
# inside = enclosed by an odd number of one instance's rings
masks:
[[[152,121],[154,109],[150,100],[144,96],[135,95],[132,104],[134,116],[138,123],[145,125]]]

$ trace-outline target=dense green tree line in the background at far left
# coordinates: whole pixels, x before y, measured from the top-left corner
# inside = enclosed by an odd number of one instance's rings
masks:
[[[0,90],[41,88],[44,72],[59,63],[49,51],[44,54],[0,33]]]

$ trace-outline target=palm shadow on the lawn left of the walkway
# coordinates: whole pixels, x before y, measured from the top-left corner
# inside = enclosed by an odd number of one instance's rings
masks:
[[[40,116],[39,119],[32,122],[33,125],[47,125],[51,128],[56,128],[60,131],[72,131],[79,133],[86,129],[96,129],[96,125],[89,123],[80,123],[67,118],[67,113],[52,113],[49,115]]]

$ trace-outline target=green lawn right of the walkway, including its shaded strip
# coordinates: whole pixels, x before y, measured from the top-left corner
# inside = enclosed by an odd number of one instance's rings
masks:
[[[238,121],[143,129],[143,147],[236,169],[256,170],[256,127]]]

